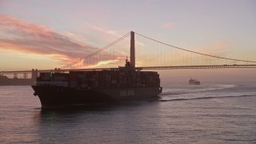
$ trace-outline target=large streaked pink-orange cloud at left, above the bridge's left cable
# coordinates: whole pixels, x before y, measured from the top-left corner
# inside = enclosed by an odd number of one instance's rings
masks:
[[[79,39],[72,38],[76,38],[72,33],[60,34],[46,26],[34,25],[0,14],[0,49],[31,54],[52,54],[53,58],[66,63],[98,50],[79,42]]]

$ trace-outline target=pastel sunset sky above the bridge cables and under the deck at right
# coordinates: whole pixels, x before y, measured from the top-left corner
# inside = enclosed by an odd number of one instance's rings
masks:
[[[66,66],[131,30],[187,50],[256,61],[254,0],[0,0],[0,71]],[[182,72],[172,77],[256,80],[255,70]]]

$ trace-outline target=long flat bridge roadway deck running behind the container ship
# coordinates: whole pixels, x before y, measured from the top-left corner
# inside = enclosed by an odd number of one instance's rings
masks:
[[[211,66],[143,66],[135,70],[175,70],[175,69],[222,69],[222,68],[256,68],[256,65],[211,65]],[[94,69],[66,69],[66,70],[38,70],[38,72],[69,72],[92,70],[119,70],[120,68],[94,68]],[[122,69],[122,67],[121,67]],[[131,68],[132,69],[132,68]],[[0,74],[31,74],[32,70],[0,71]]]

